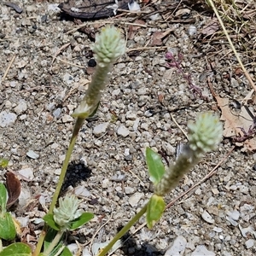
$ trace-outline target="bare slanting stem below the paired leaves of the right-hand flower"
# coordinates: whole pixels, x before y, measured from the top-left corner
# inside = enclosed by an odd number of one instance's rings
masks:
[[[131,218],[131,220],[125,224],[125,227],[119,231],[119,233],[113,237],[113,239],[108,243],[107,247],[104,247],[97,256],[104,256],[108,251],[113,247],[113,245],[118,241],[122,236],[125,236],[125,234],[131,229],[131,227],[137,223],[139,218],[143,216],[143,214],[147,211],[148,203],[139,211],[137,214]]]

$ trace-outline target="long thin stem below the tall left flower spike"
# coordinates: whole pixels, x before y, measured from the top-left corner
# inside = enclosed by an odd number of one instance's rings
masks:
[[[66,173],[67,173],[67,166],[68,166],[71,154],[73,152],[73,147],[74,147],[74,145],[76,143],[76,140],[77,140],[78,135],[79,135],[80,128],[82,127],[83,123],[84,123],[84,119],[78,118],[76,120],[76,124],[74,125],[73,135],[71,137],[69,146],[67,148],[67,154],[66,154],[65,160],[64,160],[64,162],[62,164],[61,175],[60,175],[60,178],[59,178],[59,182],[57,183],[57,187],[55,189],[55,194],[53,195],[53,199],[52,199],[51,204],[49,206],[49,212],[48,213],[52,213],[53,212],[55,204],[56,204],[56,202],[58,200],[58,197],[60,195],[61,187],[62,187],[62,184],[64,183],[64,179],[65,179],[65,176],[66,176]],[[43,247],[44,238],[46,236],[47,230],[48,230],[48,227],[47,227],[46,224],[44,224],[44,229],[42,230],[42,232],[40,234],[36,250],[33,253],[34,256],[38,256],[38,254],[41,252],[41,248]]]

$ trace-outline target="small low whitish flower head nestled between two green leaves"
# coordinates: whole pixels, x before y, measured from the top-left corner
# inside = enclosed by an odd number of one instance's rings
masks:
[[[61,230],[68,230],[69,224],[76,218],[79,218],[84,212],[78,210],[79,199],[74,195],[66,195],[59,199],[59,207],[54,209],[54,220]]]

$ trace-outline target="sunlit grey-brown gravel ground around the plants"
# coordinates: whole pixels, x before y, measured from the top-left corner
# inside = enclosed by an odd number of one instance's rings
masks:
[[[74,29],[78,21],[49,10],[59,1],[16,3],[20,14],[0,3],[0,154],[9,159],[9,169],[27,178],[13,212],[30,227],[44,216],[54,192],[73,131],[70,113],[94,70],[89,65],[95,33],[108,21],[127,38],[127,53],[114,65],[97,118],[79,134],[63,188],[79,195],[81,207],[96,215],[68,237],[71,247],[79,241],[86,255],[92,237],[92,243],[108,241],[152,195],[144,149],[160,151],[167,165],[175,160],[177,146],[186,143],[180,128],[187,131],[189,119],[209,110],[221,114],[207,79],[219,96],[234,101],[241,102],[251,87],[236,74],[237,61],[226,40],[208,40],[201,33],[211,15],[189,6],[180,4],[172,13],[175,1],[159,1],[152,5],[161,14],[154,19],[123,15],[87,22],[79,31]],[[255,48],[255,39],[251,43]],[[183,56],[180,68],[202,95],[193,93],[176,67],[166,67],[167,50],[176,59],[178,53]],[[241,59],[255,77],[253,54],[241,52]],[[200,182],[232,147],[224,138],[166,196],[166,203]],[[141,219],[113,255],[255,255],[255,159],[233,148],[217,172],[169,207],[152,230]],[[0,171],[2,180],[5,172]],[[34,229],[38,234],[41,228]]]

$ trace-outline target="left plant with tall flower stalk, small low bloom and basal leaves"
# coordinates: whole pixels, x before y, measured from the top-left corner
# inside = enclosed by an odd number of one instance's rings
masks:
[[[62,241],[62,236],[67,230],[75,230],[81,225],[90,221],[93,214],[78,210],[79,200],[73,195],[66,195],[59,200],[60,207],[56,208],[61,186],[67,172],[68,162],[73,152],[73,147],[82,127],[84,120],[96,113],[99,106],[102,91],[108,83],[108,73],[113,67],[114,61],[125,53],[125,40],[121,38],[121,33],[114,26],[106,26],[102,32],[96,36],[96,44],[93,46],[95,59],[97,61],[96,72],[79,107],[74,111],[73,117],[77,118],[73,128],[73,136],[67,148],[66,158],[61,168],[61,175],[53,195],[53,200],[49,206],[49,212],[44,216],[44,229],[38,240],[33,255],[35,256],[70,256],[72,255]],[[6,160],[0,159],[0,167],[6,167]],[[0,183],[0,239],[13,240],[15,238],[15,223],[9,212],[6,212],[8,200],[7,190]],[[44,250],[42,247],[44,245]],[[31,248],[23,243],[13,243],[3,248],[0,240],[0,256],[6,255],[32,255]]]

